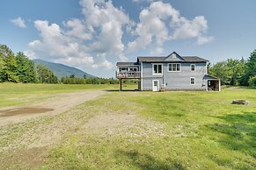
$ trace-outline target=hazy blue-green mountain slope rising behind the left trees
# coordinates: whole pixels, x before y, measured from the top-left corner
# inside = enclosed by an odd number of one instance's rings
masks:
[[[33,62],[35,63],[35,66],[41,64],[45,67],[48,67],[49,70],[54,72],[54,74],[58,77],[58,79],[61,79],[62,77],[65,77],[65,76],[70,76],[71,74],[74,74],[76,77],[84,77],[84,74],[86,75],[86,77],[95,77],[91,74],[85,73],[80,69],[77,69],[76,67],[69,67],[63,64],[53,63],[53,62],[40,60],[40,59],[35,59],[33,60]]]

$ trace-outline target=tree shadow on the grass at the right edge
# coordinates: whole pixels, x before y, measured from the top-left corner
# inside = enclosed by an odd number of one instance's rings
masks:
[[[211,131],[222,133],[217,142],[230,150],[245,152],[256,159],[256,112],[219,116],[226,124],[208,124]]]

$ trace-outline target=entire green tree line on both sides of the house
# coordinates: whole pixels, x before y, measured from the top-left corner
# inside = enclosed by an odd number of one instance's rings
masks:
[[[248,60],[228,59],[208,64],[208,74],[221,79],[223,85],[251,86],[256,88],[256,50]],[[63,84],[116,84],[118,80],[110,78],[90,77],[83,78],[70,75],[58,80],[57,76],[42,65],[35,66],[24,53],[14,54],[8,46],[0,45],[0,82],[23,83],[63,83]],[[126,83],[135,83],[127,80]]]

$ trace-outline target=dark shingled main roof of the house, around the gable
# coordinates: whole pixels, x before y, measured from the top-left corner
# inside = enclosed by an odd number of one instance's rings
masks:
[[[208,60],[202,59],[197,56],[181,56],[183,60],[173,60],[173,62],[207,62]],[[166,57],[138,57],[139,62],[172,62],[170,60],[165,60]]]

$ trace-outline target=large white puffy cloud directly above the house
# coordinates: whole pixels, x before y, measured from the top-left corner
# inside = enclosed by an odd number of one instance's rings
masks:
[[[170,23],[167,25],[167,23]],[[150,4],[150,7],[140,13],[140,22],[136,25],[135,35],[137,38],[128,43],[128,52],[135,53],[154,45],[157,53],[163,52],[162,46],[167,40],[174,39],[197,39],[201,45],[213,40],[207,37],[208,25],[203,16],[195,17],[192,20],[181,17],[179,11],[171,4],[161,1]]]

